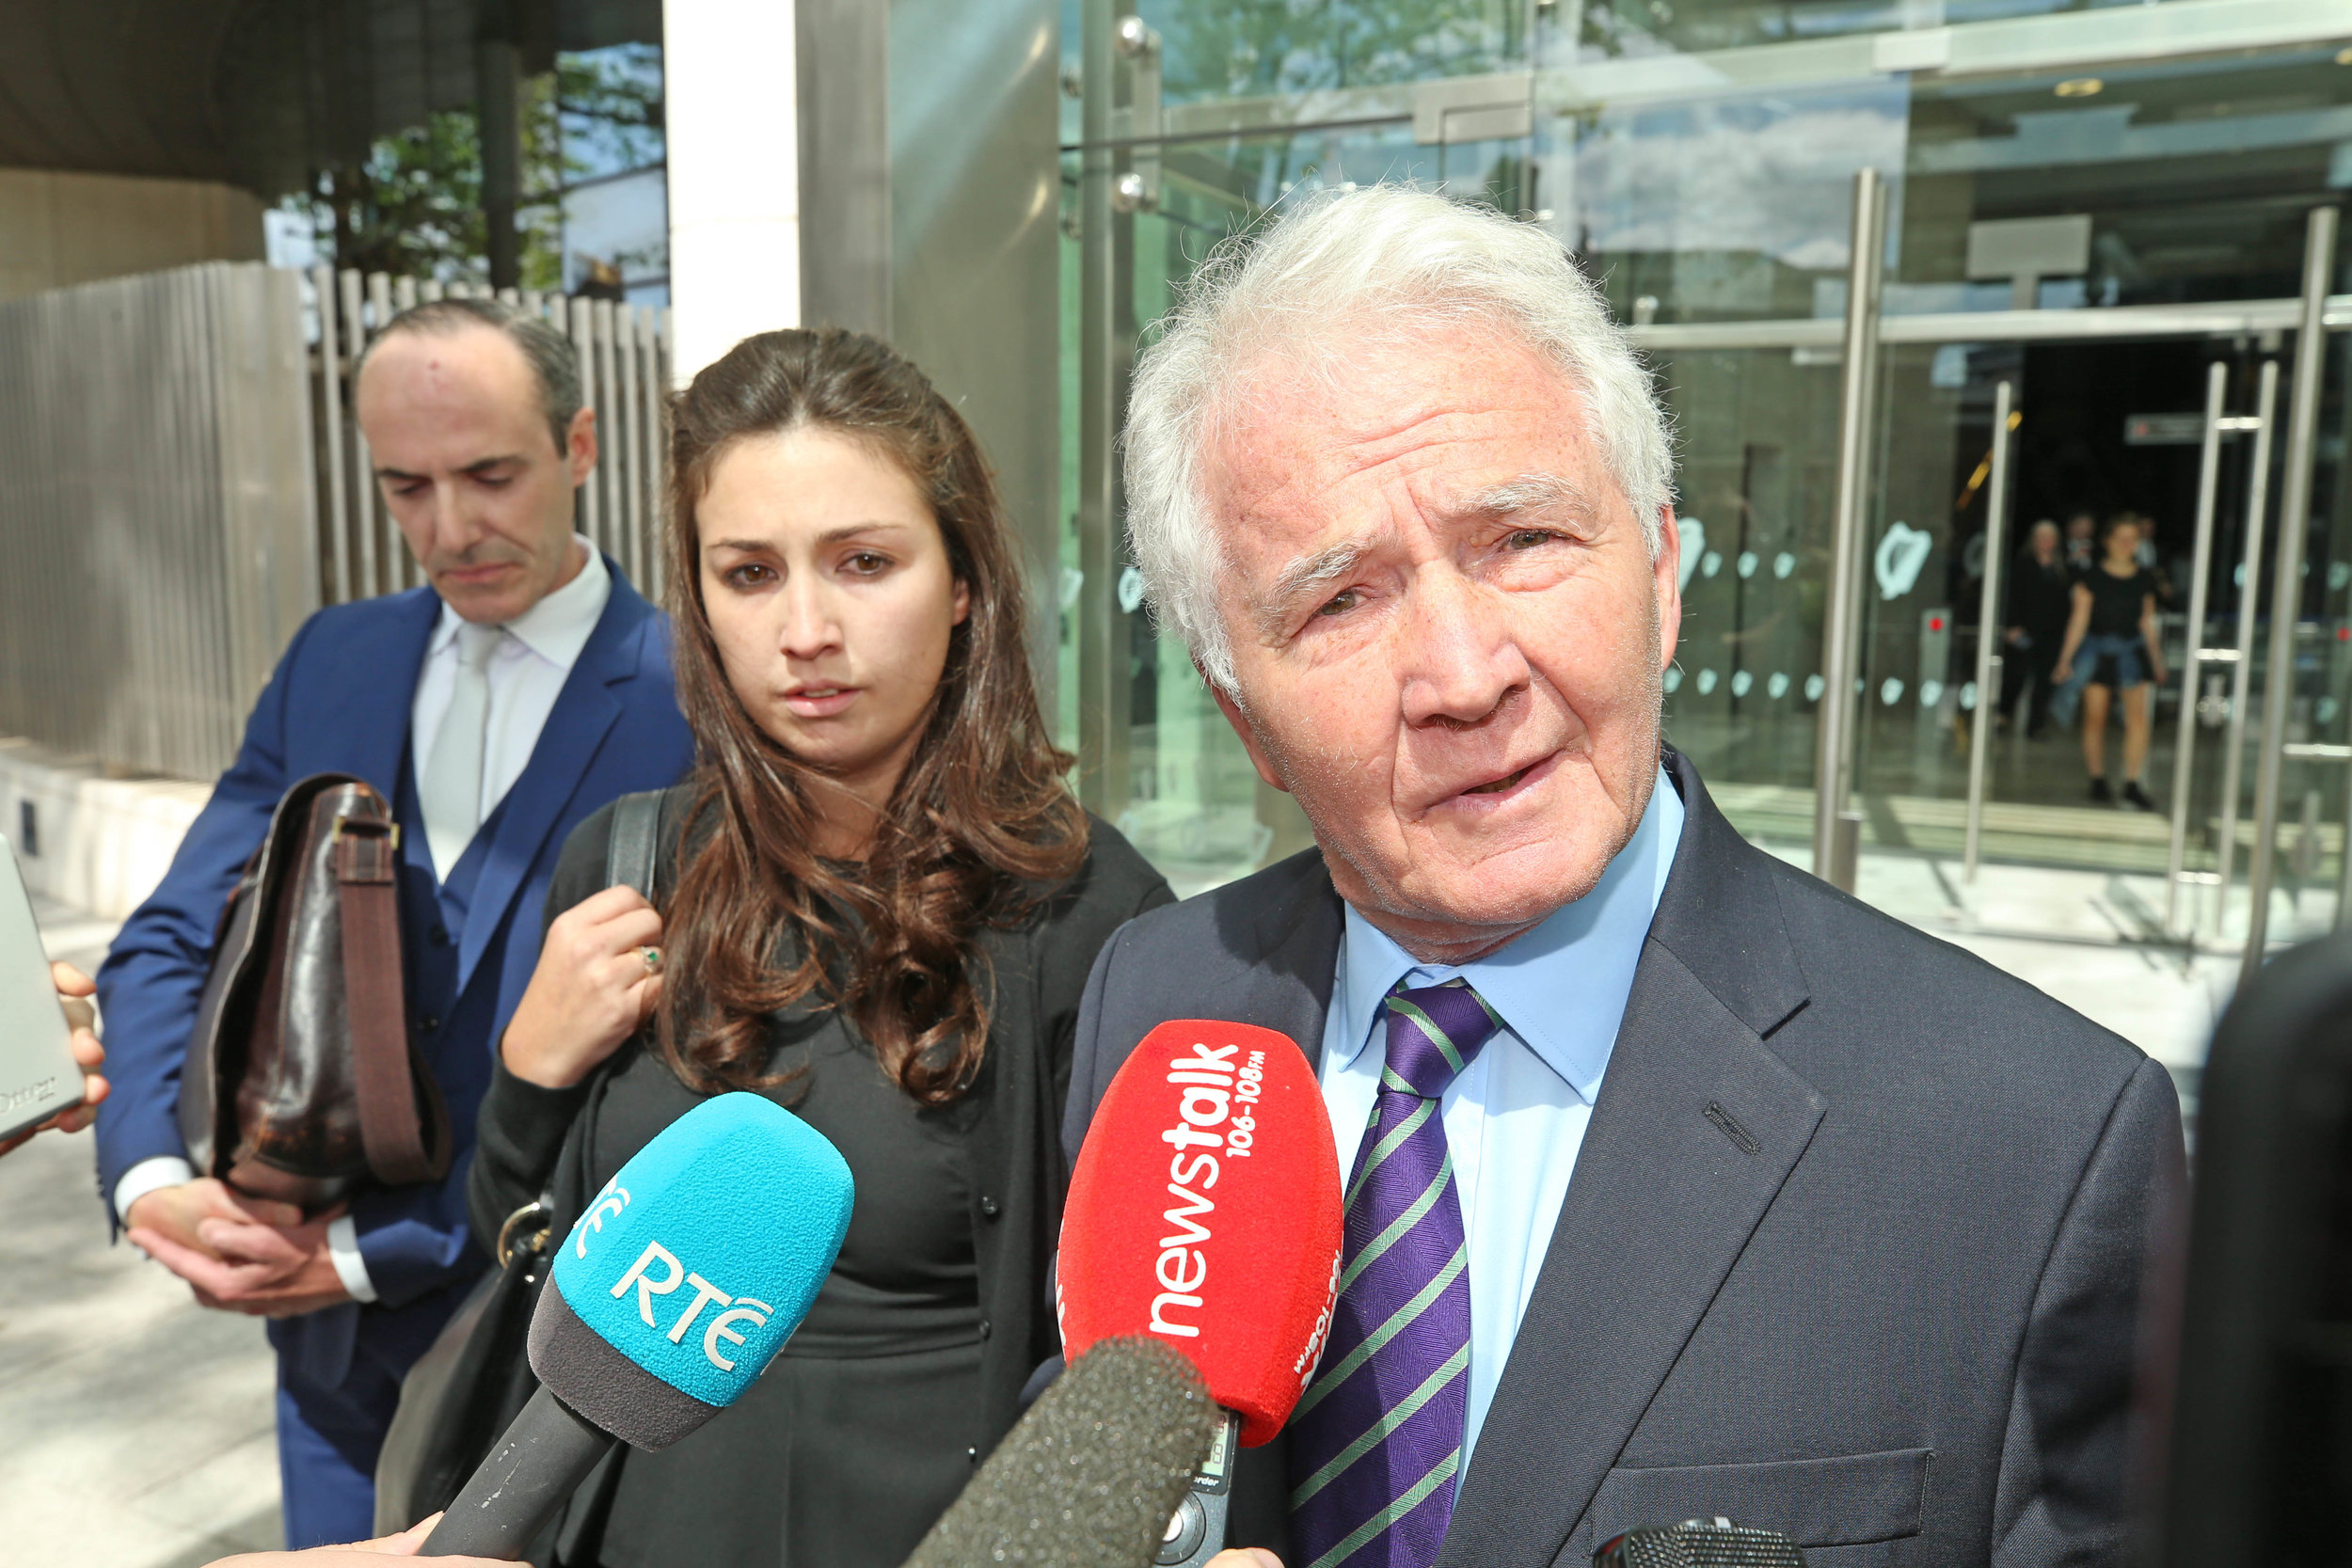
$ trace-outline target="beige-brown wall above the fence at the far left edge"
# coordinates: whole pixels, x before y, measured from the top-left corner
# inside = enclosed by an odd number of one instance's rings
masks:
[[[261,202],[195,179],[0,169],[0,301],[191,261],[261,261]]]

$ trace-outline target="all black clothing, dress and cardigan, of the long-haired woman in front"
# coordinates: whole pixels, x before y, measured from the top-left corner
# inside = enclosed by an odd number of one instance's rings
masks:
[[[666,823],[689,799],[673,790]],[[988,1051],[957,1103],[917,1105],[830,1009],[769,1020],[769,1067],[795,1070],[769,1093],[842,1150],[856,1182],[842,1255],[734,1408],[663,1453],[619,1453],[581,1488],[567,1566],[898,1563],[1011,1427],[1021,1385],[1056,1352],[1044,1269],[1068,1182],[1056,1128],[1080,994],[1110,933],[1171,900],[1117,830],[1089,827],[1080,872],[1021,929],[981,938],[995,985]],[[564,844],[550,924],[604,886],[609,837],[607,809]],[[468,1190],[477,1232],[496,1234],[541,1192],[567,1227],[696,1103],[637,1041],[562,1091],[499,1065]]]

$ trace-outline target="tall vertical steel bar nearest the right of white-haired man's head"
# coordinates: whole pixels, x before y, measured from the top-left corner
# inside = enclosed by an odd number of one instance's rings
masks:
[[[1863,515],[1870,510],[1870,369],[1879,348],[1879,172],[1853,176],[1853,256],[1846,266],[1846,353],[1839,364],[1837,512],[1830,534],[1828,623],[1820,628],[1820,710],[1813,743],[1813,872],[1853,891],[1846,736],[1860,632]]]

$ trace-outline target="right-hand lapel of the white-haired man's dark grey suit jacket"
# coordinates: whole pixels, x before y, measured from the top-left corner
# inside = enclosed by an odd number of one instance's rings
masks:
[[[1804,1006],[1773,875],[1689,764],[1668,764],[1682,846],[1463,1476],[1449,1568],[1555,1561],[1825,1110],[1764,1044]]]

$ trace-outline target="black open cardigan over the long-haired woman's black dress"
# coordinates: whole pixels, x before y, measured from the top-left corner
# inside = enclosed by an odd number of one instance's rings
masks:
[[[677,823],[689,804],[691,788],[680,785],[663,820]],[[1061,1347],[1044,1276],[1070,1180],[1056,1128],[1070,1086],[1070,1041],[1087,969],[1122,922],[1171,900],[1160,872],[1117,830],[1101,820],[1089,827],[1094,837],[1084,867],[1025,926],[981,938],[995,969],[995,1004],[969,1147],[971,1237],[988,1319],[981,1380],[990,1441],[1021,1415],[1021,1385],[1030,1371]],[[604,886],[609,839],[612,809],[604,809],[564,844],[548,889],[548,924]],[[656,886],[668,886],[673,858],[666,846]],[[630,1041],[574,1088],[539,1088],[496,1067],[482,1100],[468,1190],[475,1234],[496,1237],[506,1215],[548,1185],[555,1192],[555,1234],[572,1225],[595,1190],[581,1150],[595,1145],[593,1126],[607,1086],[637,1048]],[[567,1145],[574,1124],[581,1124],[581,1135]]]

